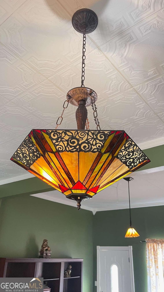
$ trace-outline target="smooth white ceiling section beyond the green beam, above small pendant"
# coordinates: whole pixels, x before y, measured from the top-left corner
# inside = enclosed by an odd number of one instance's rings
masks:
[[[164,166],[136,171],[130,177],[131,208],[164,205]],[[77,202],[69,200],[59,191],[51,191],[32,195],[34,197],[76,207]],[[81,208],[97,211],[129,208],[128,182],[121,179],[117,183],[99,192],[93,198],[81,203]]]

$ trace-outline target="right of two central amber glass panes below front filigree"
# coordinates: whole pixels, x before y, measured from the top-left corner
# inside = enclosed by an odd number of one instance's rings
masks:
[[[98,152],[79,152],[79,180],[83,183],[88,171],[97,157]]]

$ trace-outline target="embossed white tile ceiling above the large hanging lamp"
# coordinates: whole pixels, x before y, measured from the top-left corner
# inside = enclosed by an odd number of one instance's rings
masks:
[[[81,84],[82,35],[71,17],[84,7],[99,18],[87,35],[85,85],[98,94],[101,128],[124,129],[147,148],[164,141],[163,0],[1,0],[1,180],[26,174],[10,157],[32,128],[55,127],[67,91]],[[76,128],[75,110],[62,128]]]

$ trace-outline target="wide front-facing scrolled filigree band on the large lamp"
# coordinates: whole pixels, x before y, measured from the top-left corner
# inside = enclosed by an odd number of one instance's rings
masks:
[[[111,131],[47,130],[58,152],[100,152]]]

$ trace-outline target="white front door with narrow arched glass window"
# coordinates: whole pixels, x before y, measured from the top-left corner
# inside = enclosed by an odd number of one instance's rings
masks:
[[[97,246],[97,292],[135,292],[132,246]]]

